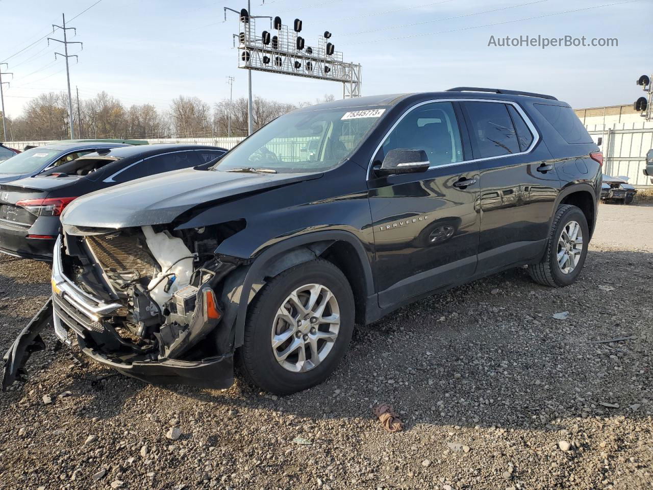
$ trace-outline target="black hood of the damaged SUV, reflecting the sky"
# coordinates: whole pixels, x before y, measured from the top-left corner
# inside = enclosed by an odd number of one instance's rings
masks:
[[[185,169],[144,177],[75,199],[61,222],[76,227],[127,228],[170,223],[198,204],[319,178]]]

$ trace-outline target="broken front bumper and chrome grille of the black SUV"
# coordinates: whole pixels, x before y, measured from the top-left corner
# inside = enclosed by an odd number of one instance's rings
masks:
[[[3,389],[24,378],[25,362],[32,351],[44,348],[40,331],[52,324],[63,344],[71,345],[74,333],[82,352],[98,363],[151,384],[186,384],[225,389],[234,382],[232,353],[200,360],[160,358],[127,361],[99,350],[93,334],[101,333],[103,316],[121,305],[101,301],[77,287],[61,267],[61,237],[57,238],[52,261],[52,299],[20,333],[4,358]]]

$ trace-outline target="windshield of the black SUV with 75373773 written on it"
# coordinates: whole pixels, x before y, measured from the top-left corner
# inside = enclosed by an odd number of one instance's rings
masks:
[[[223,172],[318,172],[336,167],[358,147],[387,107],[291,112],[262,127],[227,153]]]

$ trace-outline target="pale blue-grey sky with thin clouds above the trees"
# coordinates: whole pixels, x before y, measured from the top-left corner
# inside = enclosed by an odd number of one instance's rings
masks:
[[[14,72],[5,106],[17,116],[44,91],[66,89],[65,63],[54,61],[52,35],[61,13],[72,18],[97,0],[0,0],[0,61]],[[328,30],[345,61],[362,64],[362,94],[486,86],[550,93],[575,107],[632,103],[636,78],[653,71],[653,0],[253,0],[253,14],[302,19],[302,36],[317,44]],[[616,5],[607,5],[616,4]],[[621,4],[621,5],[619,5]],[[600,5],[607,5],[599,7]],[[72,21],[84,50],[71,46],[72,90],[81,98],[105,90],[125,105],[167,109],[178,95],[208,103],[247,93],[237,68],[232,33],[234,0],[101,0]],[[569,10],[583,9],[576,12]],[[567,13],[560,13],[567,12]],[[259,24],[263,30],[264,22]],[[648,31],[648,34],[646,32]],[[70,32],[70,31],[69,31]],[[618,47],[488,46],[490,36],[616,38]],[[52,37],[61,38],[61,31]],[[4,65],[3,65],[4,66]],[[3,78],[10,80],[10,77]],[[6,87],[6,86],[5,86]],[[298,103],[325,93],[342,97],[342,85],[279,74],[254,73],[255,95]]]

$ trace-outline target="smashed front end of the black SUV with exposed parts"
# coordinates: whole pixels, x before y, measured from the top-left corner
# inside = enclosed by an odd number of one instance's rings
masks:
[[[24,374],[29,353],[42,344],[38,331],[50,320],[63,344],[76,341],[127,376],[231,386],[234,335],[221,298],[225,277],[242,260],[214,252],[240,224],[213,228],[64,226],[54,248],[52,318],[44,318],[44,307],[16,339],[5,356],[3,388]]]

